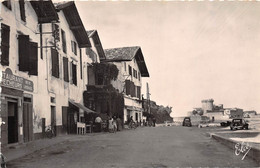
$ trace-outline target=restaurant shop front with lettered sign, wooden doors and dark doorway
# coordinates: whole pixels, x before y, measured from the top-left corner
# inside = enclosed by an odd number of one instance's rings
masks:
[[[26,93],[28,92],[28,93]],[[11,69],[2,72],[1,81],[1,143],[22,143],[33,140],[33,82],[13,75]]]

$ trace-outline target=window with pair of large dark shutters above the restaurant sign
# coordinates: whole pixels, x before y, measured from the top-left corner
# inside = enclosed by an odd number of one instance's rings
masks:
[[[19,71],[38,75],[38,44],[29,41],[29,36],[18,36]]]

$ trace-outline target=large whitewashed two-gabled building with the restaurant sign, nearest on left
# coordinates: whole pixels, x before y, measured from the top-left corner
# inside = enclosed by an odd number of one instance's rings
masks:
[[[83,91],[93,59],[74,2],[1,3],[1,127],[3,145],[76,133],[85,113]],[[99,58],[96,58],[99,59]]]

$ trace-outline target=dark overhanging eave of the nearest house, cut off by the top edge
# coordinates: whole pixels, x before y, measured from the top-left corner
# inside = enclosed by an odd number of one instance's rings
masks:
[[[39,23],[58,21],[59,17],[52,1],[30,1]]]

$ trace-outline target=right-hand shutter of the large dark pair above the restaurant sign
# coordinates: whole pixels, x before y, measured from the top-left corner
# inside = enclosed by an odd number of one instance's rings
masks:
[[[29,75],[38,75],[38,44],[30,42],[30,71]]]

